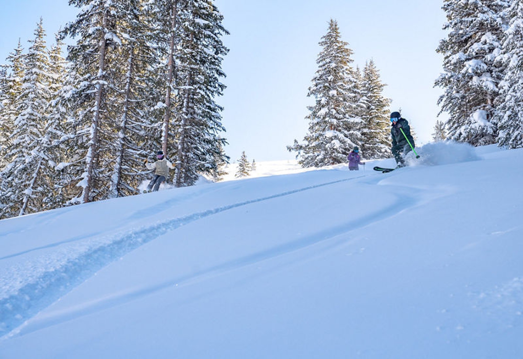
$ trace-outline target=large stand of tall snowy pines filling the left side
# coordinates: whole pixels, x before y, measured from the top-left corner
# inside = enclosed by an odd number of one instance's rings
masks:
[[[69,3],[50,49],[40,20],[0,71],[0,218],[135,194],[157,150],[177,187],[217,175],[228,31],[212,0]]]

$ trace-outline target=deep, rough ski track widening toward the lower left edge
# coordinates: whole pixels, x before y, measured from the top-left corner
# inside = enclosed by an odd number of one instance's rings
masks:
[[[351,181],[360,177],[363,176],[340,179],[338,181],[289,190],[263,198],[238,202],[224,207],[189,214],[152,226],[134,229],[124,234],[100,236],[98,238],[91,237],[90,242],[93,242],[94,247],[79,248],[74,250],[73,253],[71,253],[71,251],[65,251],[62,258],[53,258],[49,263],[42,264],[39,262],[35,264],[34,262],[29,262],[25,264],[26,268],[19,268],[18,266],[10,268],[6,271],[6,274],[9,273],[9,276],[0,278],[0,288],[7,289],[7,293],[4,293],[0,298],[0,318],[2,318],[2,322],[0,322],[0,333],[5,335],[18,327],[24,321],[35,316],[40,310],[51,305],[67,292],[70,292],[75,286],[93,276],[94,273],[107,266],[110,262],[182,225],[233,208],[288,196],[305,190]],[[62,243],[81,239],[83,238],[75,237]],[[49,247],[53,246],[54,245],[50,245]],[[8,257],[15,257],[21,254],[22,253],[18,253]],[[47,269],[43,269],[40,273],[37,273],[36,278],[32,278],[29,283],[23,282],[26,277],[25,273],[31,273],[34,269],[42,268]],[[13,280],[13,276],[16,276],[16,273],[21,273],[19,275],[21,279],[18,281]],[[21,284],[21,286],[19,288],[12,288],[13,281],[16,282],[15,286],[16,284]]]

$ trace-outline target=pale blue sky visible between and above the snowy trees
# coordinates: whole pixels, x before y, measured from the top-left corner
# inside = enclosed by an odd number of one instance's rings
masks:
[[[66,0],[2,1],[0,63],[17,45],[33,38],[40,17],[50,36],[77,9]],[[223,124],[231,161],[245,151],[249,160],[286,160],[294,139],[302,141],[304,119],[312,99],[306,94],[317,69],[318,42],[329,19],[338,21],[344,41],[354,51],[353,65],[373,59],[388,86],[384,95],[393,111],[402,109],[418,135],[430,141],[441,89],[433,88],[441,72],[436,47],[445,32],[441,0],[215,0],[231,32],[223,41],[223,79],[228,88],[218,102],[225,107]],[[440,119],[446,119],[445,114]],[[365,157],[365,153],[363,153]]]

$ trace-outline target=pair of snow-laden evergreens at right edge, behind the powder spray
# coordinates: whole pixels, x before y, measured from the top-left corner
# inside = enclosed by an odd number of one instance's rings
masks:
[[[439,137],[473,146],[523,147],[523,2],[444,1],[447,38],[438,104],[449,114]],[[441,132],[443,131],[443,136]]]

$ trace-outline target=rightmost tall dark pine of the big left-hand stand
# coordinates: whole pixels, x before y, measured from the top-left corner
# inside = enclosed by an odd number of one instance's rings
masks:
[[[229,32],[222,25],[223,16],[211,0],[189,0],[180,9],[180,51],[176,86],[176,167],[177,187],[196,183],[198,173],[217,170],[220,146],[226,140],[220,136],[225,128],[221,122],[222,107],[215,98],[222,94],[225,77],[221,69],[228,49],[221,37]]]

